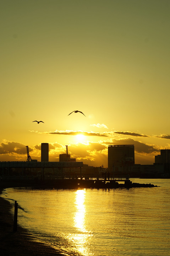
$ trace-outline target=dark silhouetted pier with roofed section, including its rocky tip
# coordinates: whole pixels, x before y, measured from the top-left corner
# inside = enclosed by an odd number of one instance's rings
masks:
[[[0,187],[42,187],[42,188],[118,188],[118,187],[150,187],[154,185],[134,184],[128,175],[115,176],[113,173],[84,174],[83,162],[0,162]],[[17,168],[20,174],[11,175],[11,170]],[[39,168],[39,173],[31,175],[32,168]],[[56,168],[56,175],[47,175],[45,168]],[[64,174],[63,169],[74,168],[71,174]],[[28,174],[26,175],[26,169]],[[30,175],[29,175],[30,173]]]

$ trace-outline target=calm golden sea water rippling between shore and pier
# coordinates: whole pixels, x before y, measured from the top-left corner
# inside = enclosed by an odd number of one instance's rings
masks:
[[[169,256],[170,180],[131,179],[154,188],[8,188],[18,223],[65,255]],[[12,199],[12,200],[11,200]]]

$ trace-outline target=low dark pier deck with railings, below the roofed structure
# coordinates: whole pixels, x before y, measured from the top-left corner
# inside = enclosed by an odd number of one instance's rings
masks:
[[[121,183],[119,183],[121,182]],[[128,177],[111,177],[109,180],[102,175],[39,175],[39,176],[1,176],[0,186],[7,187],[41,187],[41,188],[117,188],[131,187]]]

